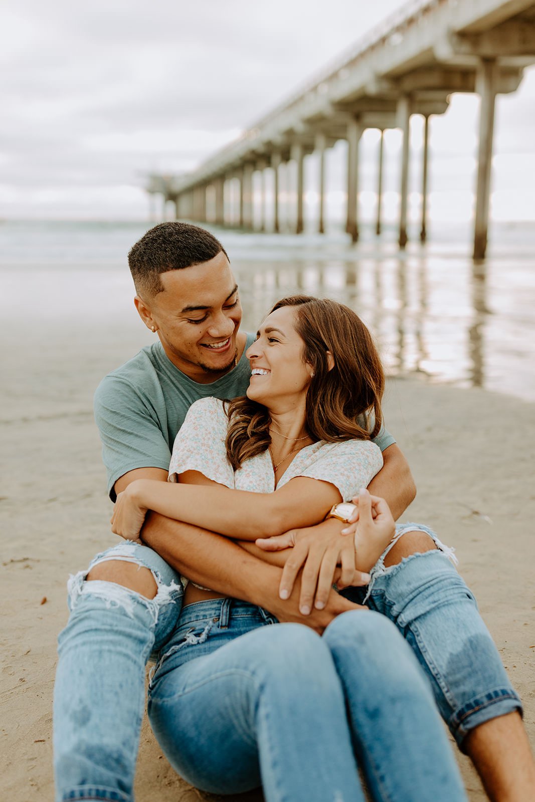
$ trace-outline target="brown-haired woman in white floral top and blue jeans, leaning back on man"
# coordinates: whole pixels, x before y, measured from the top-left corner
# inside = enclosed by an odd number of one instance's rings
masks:
[[[366,327],[335,302],[286,298],[247,357],[247,397],[193,404],[172,454],[178,484],[130,484],[117,499],[116,533],[137,537],[153,509],[257,549],[266,531],[330,513],[349,521],[340,503],[382,464],[370,437],[381,425],[383,371]],[[360,492],[356,553],[353,538],[340,537],[321,565],[306,566],[318,574],[316,604],[338,561],[340,584],[359,583],[393,534],[387,505]],[[188,584],[148,708],[182,776],[222,794],[262,784],[268,802],[363,800],[360,764],[374,800],[465,799],[431,689],[391,622],[356,610],[322,638],[274,623]]]

